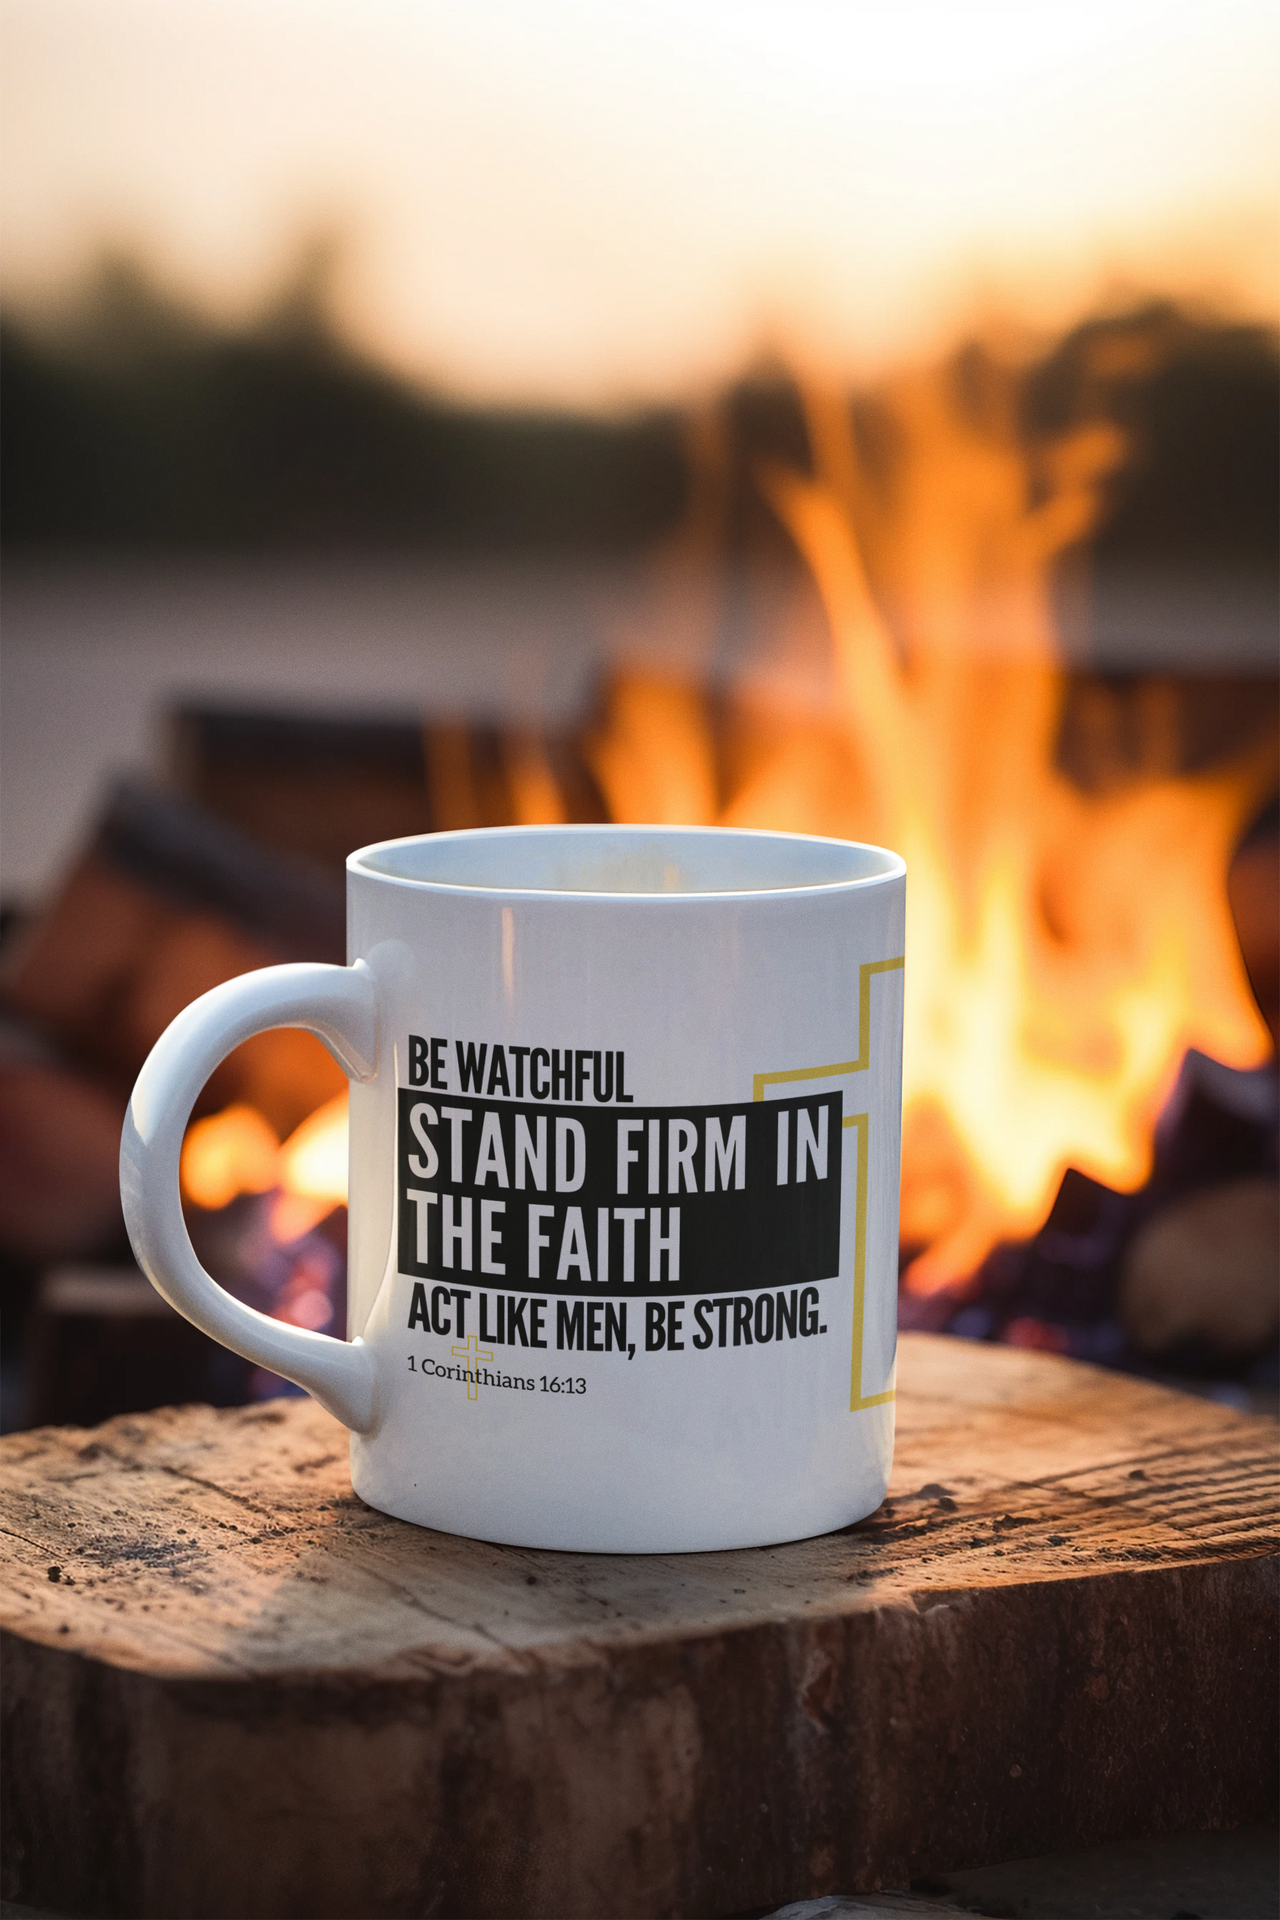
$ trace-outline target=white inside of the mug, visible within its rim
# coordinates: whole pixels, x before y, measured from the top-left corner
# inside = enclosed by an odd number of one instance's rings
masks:
[[[499,893],[787,893],[848,887],[904,872],[858,841],[737,828],[476,828],[384,841],[351,868],[384,879]]]

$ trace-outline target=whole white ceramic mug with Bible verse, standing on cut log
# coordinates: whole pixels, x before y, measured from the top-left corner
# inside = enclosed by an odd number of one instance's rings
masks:
[[[125,1219],[157,1290],[351,1428],[372,1507],[576,1551],[871,1513],[892,1453],[902,860],[702,828],[499,828],[347,862],[351,966],[215,987],[148,1058]],[[232,1046],[351,1077],[349,1340],[192,1250]]]

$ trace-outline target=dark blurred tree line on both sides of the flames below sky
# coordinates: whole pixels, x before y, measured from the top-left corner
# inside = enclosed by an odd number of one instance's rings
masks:
[[[317,242],[240,330],[180,307],[130,261],[40,328],[0,319],[0,526],[10,549],[624,553],[691,488],[676,407],[606,419],[449,403],[361,359],[328,319]],[[979,346],[954,378],[983,409]],[[1280,355],[1265,328],[1169,305],[1088,321],[1021,382],[1031,438],[1125,426],[1132,461],[1094,541],[1107,570],[1274,582]],[[737,492],[760,455],[808,461],[771,371],[722,396]],[[877,465],[875,401],[854,401]],[[883,449],[879,449],[883,451]],[[756,522],[758,526],[758,522]]]

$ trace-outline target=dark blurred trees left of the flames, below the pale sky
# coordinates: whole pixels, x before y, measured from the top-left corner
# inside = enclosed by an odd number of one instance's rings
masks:
[[[676,413],[449,405],[351,353],[319,275],[221,330],[129,261],[0,323],[10,547],[614,551],[681,513]]]

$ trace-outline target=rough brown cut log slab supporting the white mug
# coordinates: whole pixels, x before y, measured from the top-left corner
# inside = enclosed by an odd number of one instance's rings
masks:
[[[1270,1820],[1276,1428],[904,1336],[890,1496],[737,1553],[365,1507],[311,1402],[4,1442],[6,1893],[735,1914]]]

